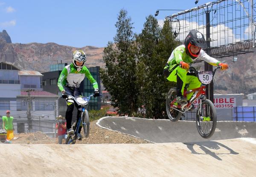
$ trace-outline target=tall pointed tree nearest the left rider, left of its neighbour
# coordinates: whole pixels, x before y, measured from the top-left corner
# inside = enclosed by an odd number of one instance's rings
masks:
[[[127,11],[122,9],[115,25],[117,29],[113,42],[108,42],[104,49],[106,69],[100,71],[102,82],[111,94],[112,104],[119,108],[121,115],[137,112],[137,47],[132,25]]]

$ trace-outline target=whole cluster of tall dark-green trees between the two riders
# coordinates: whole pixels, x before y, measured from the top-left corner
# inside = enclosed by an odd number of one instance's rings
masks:
[[[165,118],[165,97],[173,84],[164,78],[163,68],[179,45],[169,22],[160,28],[150,15],[141,34],[135,35],[131,18],[121,10],[116,28],[114,41],[104,50],[106,69],[100,71],[113,106],[121,115]]]

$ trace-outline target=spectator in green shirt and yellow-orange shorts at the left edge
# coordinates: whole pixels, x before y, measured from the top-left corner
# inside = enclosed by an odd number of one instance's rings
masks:
[[[7,140],[12,140],[13,135],[13,117],[10,116],[10,111],[6,111],[6,116],[2,117],[3,119],[3,129],[7,132]]]

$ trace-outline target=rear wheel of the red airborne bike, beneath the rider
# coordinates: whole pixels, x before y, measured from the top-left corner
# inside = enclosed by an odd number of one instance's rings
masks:
[[[180,120],[180,117],[182,115],[181,112],[173,109],[170,106],[170,103],[177,97],[177,91],[176,91],[176,87],[173,87],[169,90],[167,96],[166,96],[166,114],[168,116],[168,118],[172,121],[172,122],[177,122]],[[180,110],[180,109],[178,109]]]

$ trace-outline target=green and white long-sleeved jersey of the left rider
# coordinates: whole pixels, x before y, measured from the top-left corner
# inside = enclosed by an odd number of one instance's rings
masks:
[[[90,83],[93,84],[94,89],[99,88],[97,81],[90,74],[86,66],[82,67],[80,71],[77,71],[73,64],[65,66],[61,71],[58,79],[58,88],[60,91],[63,91],[65,90],[63,86],[79,87],[85,76],[89,79]]]

